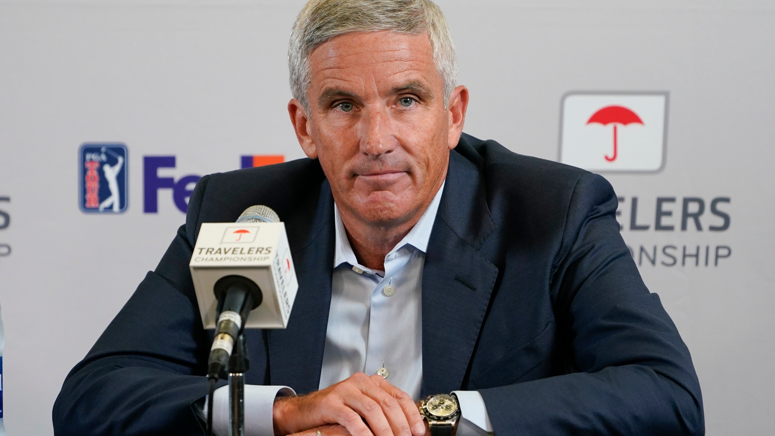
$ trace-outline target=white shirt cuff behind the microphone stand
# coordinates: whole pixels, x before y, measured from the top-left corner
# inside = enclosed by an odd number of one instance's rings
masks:
[[[277,396],[294,395],[288,386],[245,385],[245,436],[274,436],[272,410]],[[229,434],[229,386],[215,389],[212,403],[212,432],[218,436]],[[207,402],[202,416],[207,421]]]

